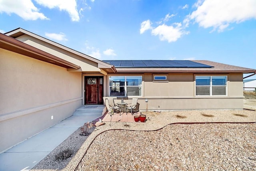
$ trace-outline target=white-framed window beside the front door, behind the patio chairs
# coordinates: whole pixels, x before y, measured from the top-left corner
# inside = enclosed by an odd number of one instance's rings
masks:
[[[141,95],[142,76],[110,76],[109,96]]]

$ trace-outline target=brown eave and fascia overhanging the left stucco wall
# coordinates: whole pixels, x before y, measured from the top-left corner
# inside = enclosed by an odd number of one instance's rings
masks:
[[[61,58],[53,56],[52,54],[48,54],[47,52],[39,50],[33,46],[25,44],[19,40],[11,38],[10,36],[6,36],[2,33],[0,33],[0,48],[9,50],[12,52],[16,52],[18,54],[22,54],[30,58],[35,58],[37,60],[48,62],[57,66],[61,66],[64,68],[72,68],[72,69],[80,68],[75,64],[72,64]]]

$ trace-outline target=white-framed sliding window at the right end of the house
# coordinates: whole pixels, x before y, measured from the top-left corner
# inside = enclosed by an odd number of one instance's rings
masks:
[[[227,95],[227,76],[196,76],[196,95]]]

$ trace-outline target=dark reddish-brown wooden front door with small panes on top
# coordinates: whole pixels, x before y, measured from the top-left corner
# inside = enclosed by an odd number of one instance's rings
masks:
[[[85,77],[85,104],[103,104],[103,77]]]

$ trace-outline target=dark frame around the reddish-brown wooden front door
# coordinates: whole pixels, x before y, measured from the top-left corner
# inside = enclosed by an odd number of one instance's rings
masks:
[[[97,101],[98,103],[97,104],[86,104],[86,93],[87,93],[87,90],[86,90],[86,81],[87,81],[87,78],[97,78],[97,89],[98,89],[98,93],[97,93]],[[100,78],[102,78],[102,103],[100,103],[100,91],[99,91],[99,80]],[[82,96],[83,96],[83,104],[84,105],[103,105],[104,104],[104,100],[103,100],[103,97],[104,97],[104,76],[103,75],[87,75],[87,74],[83,74],[83,93],[82,93]]]

